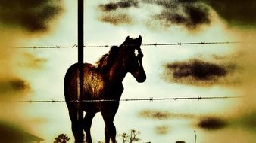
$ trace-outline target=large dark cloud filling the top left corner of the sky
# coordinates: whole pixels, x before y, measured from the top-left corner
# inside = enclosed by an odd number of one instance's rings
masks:
[[[62,0],[0,0],[0,24],[28,32],[46,31],[62,10]]]

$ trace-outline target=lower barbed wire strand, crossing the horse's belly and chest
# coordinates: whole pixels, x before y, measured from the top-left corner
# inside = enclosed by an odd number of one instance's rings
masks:
[[[211,96],[211,97],[170,97],[170,98],[147,98],[147,99],[98,99],[98,100],[71,100],[71,101],[65,101],[65,100],[27,100],[27,101],[17,101],[19,103],[39,103],[39,102],[52,102],[52,103],[58,103],[58,102],[139,102],[139,101],[161,101],[161,100],[191,100],[191,99],[236,99],[236,98],[242,98],[242,96]]]

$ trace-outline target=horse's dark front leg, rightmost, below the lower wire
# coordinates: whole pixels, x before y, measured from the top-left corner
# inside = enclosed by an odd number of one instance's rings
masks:
[[[114,126],[114,116],[117,113],[119,103],[103,103],[101,105],[101,115],[105,122],[105,143],[116,143],[116,127]]]

